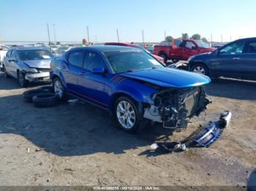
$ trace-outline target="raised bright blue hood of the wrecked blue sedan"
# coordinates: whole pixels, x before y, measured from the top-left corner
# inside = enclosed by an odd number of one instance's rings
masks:
[[[144,82],[149,82],[160,87],[183,88],[206,85],[211,82],[210,78],[202,74],[168,68],[129,71],[120,75],[130,79],[138,79]]]

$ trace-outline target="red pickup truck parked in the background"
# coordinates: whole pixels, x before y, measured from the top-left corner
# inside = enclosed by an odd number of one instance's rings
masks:
[[[200,40],[192,39],[173,39],[172,42],[165,45],[154,46],[154,55],[159,55],[164,58],[165,63],[167,60],[177,62],[179,60],[187,61],[192,55],[200,53],[212,52],[214,48]]]

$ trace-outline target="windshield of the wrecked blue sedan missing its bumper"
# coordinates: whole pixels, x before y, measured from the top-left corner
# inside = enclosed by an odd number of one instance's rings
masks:
[[[164,67],[151,55],[140,50],[116,50],[104,53],[116,73]]]

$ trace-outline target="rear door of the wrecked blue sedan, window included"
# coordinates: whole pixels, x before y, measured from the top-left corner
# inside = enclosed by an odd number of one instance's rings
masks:
[[[83,71],[83,58],[85,52],[81,50],[75,50],[69,52],[67,58],[67,64],[61,65],[61,73],[64,76],[67,84],[67,91],[71,93],[79,93],[78,77]]]

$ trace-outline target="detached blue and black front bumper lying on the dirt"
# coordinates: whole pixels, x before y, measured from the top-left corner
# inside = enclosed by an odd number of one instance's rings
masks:
[[[218,121],[211,121],[208,125],[198,128],[187,139],[180,142],[152,144],[151,149],[164,149],[165,152],[184,151],[189,147],[209,147],[226,128],[231,120],[231,112],[223,112]]]

